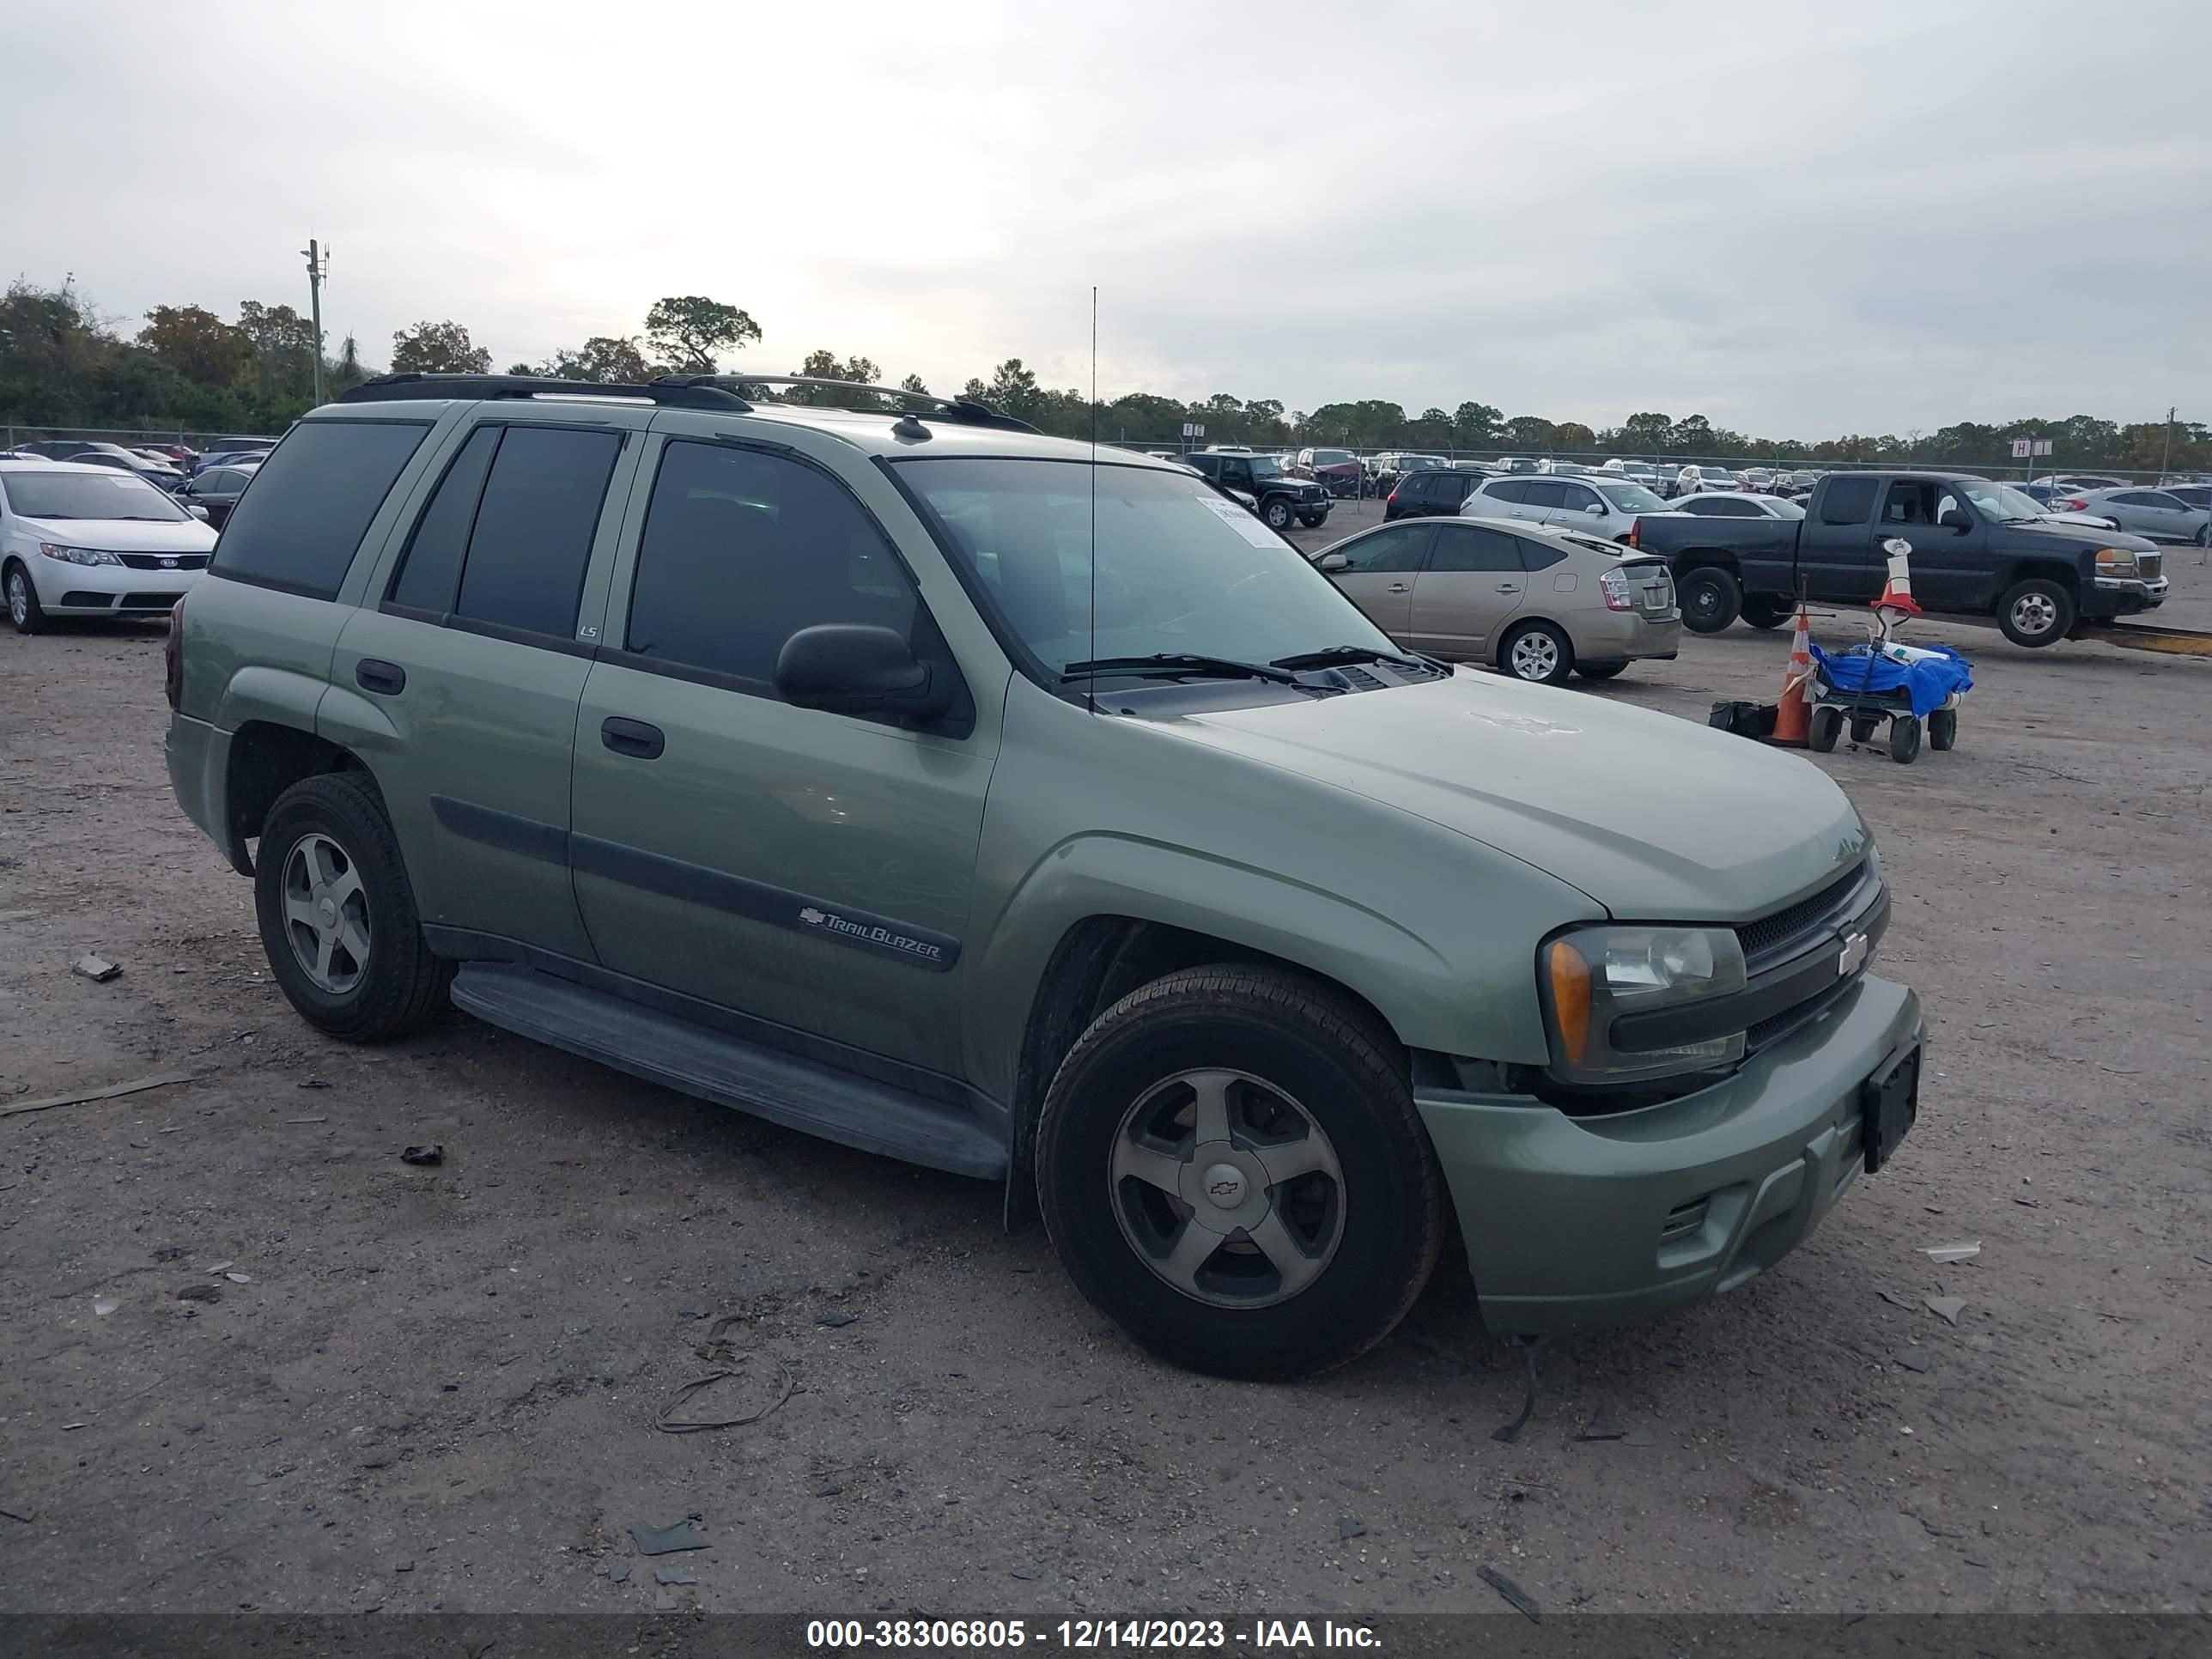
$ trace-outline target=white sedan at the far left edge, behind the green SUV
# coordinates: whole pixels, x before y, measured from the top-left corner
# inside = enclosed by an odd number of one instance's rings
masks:
[[[157,617],[215,531],[128,469],[0,460],[0,593],[15,633],[49,617]]]

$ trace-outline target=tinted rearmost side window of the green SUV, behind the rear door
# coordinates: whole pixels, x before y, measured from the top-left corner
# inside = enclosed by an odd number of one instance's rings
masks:
[[[239,498],[215,551],[219,575],[330,599],[369,520],[429,427],[303,420]]]

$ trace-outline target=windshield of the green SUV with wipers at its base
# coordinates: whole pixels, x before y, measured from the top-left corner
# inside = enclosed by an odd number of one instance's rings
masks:
[[[902,460],[898,473],[1046,672],[1157,653],[1394,650],[1298,549],[1194,478],[1079,460]]]

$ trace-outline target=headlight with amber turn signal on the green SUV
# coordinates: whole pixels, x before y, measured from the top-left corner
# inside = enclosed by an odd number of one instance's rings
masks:
[[[1745,987],[1743,947],[1725,927],[1577,927],[1537,951],[1551,1073],[1566,1084],[1621,1084],[1710,1071],[1743,1057],[1728,1031],[1666,1048],[1615,1046],[1615,1022]]]

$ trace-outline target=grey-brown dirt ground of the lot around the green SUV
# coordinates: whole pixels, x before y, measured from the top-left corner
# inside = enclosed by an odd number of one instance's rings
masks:
[[[170,801],[157,635],[0,637],[0,1106],[195,1073],[0,1119],[0,1608],[1489,1613],[1482,1566],[1544,1608],[2212,1606],[2212,661],[1920,635],[1978,661],[1960,748],[1820,761],[1931,1009],[1920,1126],[1774,1274],[1551,1354],[1520,1444],[1464,1272],[1347,1371],[1210,1383],[993,1188],[458,1015],[316,1037]],[[1703,719],[1781,657],[1562,695]],[[657,1433],[721,1314],[790,1398]],[[688,1513],[695,1588],[611,1577]]]

